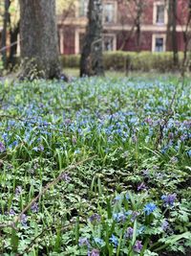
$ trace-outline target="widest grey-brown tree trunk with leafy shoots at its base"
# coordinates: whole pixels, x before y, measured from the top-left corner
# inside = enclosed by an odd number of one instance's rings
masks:
[[[20,0],[22,77],[60,76],[55,0]]]

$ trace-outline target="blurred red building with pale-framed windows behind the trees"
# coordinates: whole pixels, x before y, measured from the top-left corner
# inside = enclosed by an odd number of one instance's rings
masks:
[[[171,0],[170,0],[171,1]],[[141,2],[141,1],[140,1]],[[141,6],[138,34],[138,6],[131,0],[103,0],[104,51],[171,51],[168,39],[167,0],[144,0]],[[188,1],[178,0],[177,44],[183,50],[183,30],[187,18]],[[78,0],[65,18],[58,17],[61,54],[79,54],[87,25],[88,0]]]

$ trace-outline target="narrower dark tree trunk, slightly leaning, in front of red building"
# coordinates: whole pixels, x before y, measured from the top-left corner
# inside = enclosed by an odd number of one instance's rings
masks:
[[[102,76],[102,0],[90,0],[88,27],[80,60],[80,76]]]

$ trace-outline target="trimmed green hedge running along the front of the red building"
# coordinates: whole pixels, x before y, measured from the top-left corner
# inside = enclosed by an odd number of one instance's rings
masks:
[[[181,60],[182,53],[179,53]],[[123,71],[144,71],[157,70],[159,72],[168,72],[175,69],[173,64],[173,54],[151,53],[151,52],[107,52],[103,54],[104,67],[106,70],[123,70]],[[70,55],[61,56],[63,67],[79,67],[80,56]]]

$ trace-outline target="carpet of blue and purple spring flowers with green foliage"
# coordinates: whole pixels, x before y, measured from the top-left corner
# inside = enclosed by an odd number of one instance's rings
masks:
[[[0,83],[1,255],[188,255],[190,81]]]

